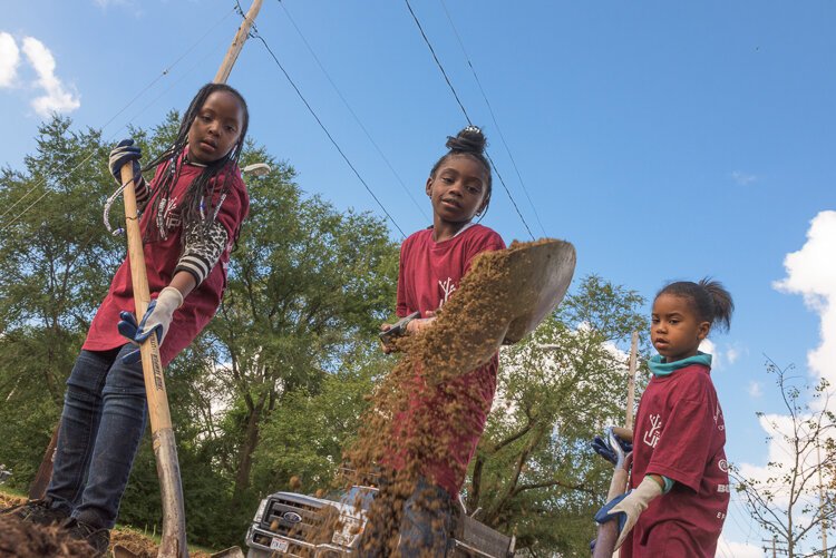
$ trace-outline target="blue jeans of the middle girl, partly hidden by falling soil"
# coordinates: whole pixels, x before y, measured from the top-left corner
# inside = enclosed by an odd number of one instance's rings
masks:
[[[401,558],[444,558],[453,547],[453,499],[445,489],[419,478],[402,506],[386,492],[386,479],[380,491],[383,506],[373,506],[360,540],[360,558],[382,558],[393,550]],[[397,499],[396,499],[397,500]],[[395,527],[395,532],[392,532]],[[392,549],[396,544],[397,547]]]

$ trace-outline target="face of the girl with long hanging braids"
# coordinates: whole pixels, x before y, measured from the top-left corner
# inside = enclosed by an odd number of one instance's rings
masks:
[[[188,128],[188,160],[207,165],[222,159],[235,147],[244,125],[244,109],[229,91],[206,97]]]

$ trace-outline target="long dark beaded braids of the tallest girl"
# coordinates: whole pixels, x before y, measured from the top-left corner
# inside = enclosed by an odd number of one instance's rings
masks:
[[[235,147],[220,159],[208,163],[203,172],[188,185],[182,204],[184,225],[200,223],[198,231],[201,235],[206,235],[212,228],[217,213],[221,211],[221,205],[230,192],[231,176],[233,175],[232,169],[241,158],[244,137],[250,125],[250,111],[244,97],[234,88],[226,84],[206,84],[197,91],[197,95],[194,96],[192,102],[188,105],[185,115],[183,115],[183,120],[181,120],[179,130],[174,144],[143,168],[143,170],[148,170],[157,165],[165,164],[163,177],[159,185],[155,188],[153,193],[154,197],[149,204],[150,211],[154,212],[152,215],[155,218],[152,219],[152,225],[146,231],[145,241],[166,237],[165,225],[162,219],[162,214],[166,208],[161,207],[162,202],[168,199],[172,188],[174,188],[179,178],[179,173],[185,160],[185,158],[179,158],[179,155],[188,145],[188,130],[192,128],[192,123],[194,123],[208,96],[215,91],[229,92],[241,104],[243,112],[241,133]],[[221,175],[223,175],[223,180],[218,180]],[[240,228],[235,231],[233,242],[237,241],[239,233]]]

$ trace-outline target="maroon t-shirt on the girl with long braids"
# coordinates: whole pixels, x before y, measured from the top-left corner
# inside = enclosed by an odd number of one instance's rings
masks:
[[[185,153],[185,150],[184,150]],[[183,156],[181,156],[182,160]],[[152,190],[155,190],[159,179],[163,176],[163,167],[157,167],[154,182],[150,184]],[[179,262],[183,251],[181,237],[183,235],[182,226],[182,204],[183,197],[188,189],[188,185],[203,172],[203,167],[183,164],[181,166],[179,177],[172,188],[172,193],[166,200],[161,202],[161,207],[166,208],[165,223],[167,238],[146,242],[145,267],[148,274],[148,288],[150,297],[156,298],[159,292],[168,286],[174,275],[174,268]],[[181,351],[188,346],[201,331],[206,326],[210,320],[215,315],[224,288],[226,288],[226,270],[230,263],[230,252],[232,249],[235,231],[246,217],[250,209],[250,198],[246,193],[246,186],[241,178],[241,170],[237,165],[226,167],[230,176],[230,192],[221,205],[217,214],[217,221],[226,229],[229,242],[218,262],[206,275],[206,278],[185,297],[183,306],[174,312],[172,324],[168,333],[163,340],[159,347],[159,356],[163,365],[167,365]],[[224,179],[224,175],[217,177]],[[217,188],[221,189],[221,188]],[[215,203],[220,199],[216,195]],[[213,204],[214,205],[214,204]],[[145,235],[148,226],[155,219],[152,215],[152,204],[148,204],[147,211],[143,213],[139,219],[139,228]],[[156,226],[156,225],[154,225]],[[158,235],[154,235],[155,237]],[[88,351],[107,351],[121,346],[127,343],[116,329],[119,322],[119,312],[135,312],[134,288],[130,281],[130,267],[128,258],[121,263],[110,283],[110,290],[101,302],[96,316],[90,324],[90,331],[87,333],[87,340],[81,349]],[[138,316],[142,319],[142,316]]]

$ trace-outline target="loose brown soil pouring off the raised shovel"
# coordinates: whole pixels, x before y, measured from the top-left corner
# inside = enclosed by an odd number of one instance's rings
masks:
[[[477,256],[432,326],[395,340],[400,358],[375,391],[359,439],[344,456],[361,473],[397,462],[397,471],[383,472],[389,482],[370,512],[367,550],[393,554],[404,501],[418,477],[427,476],[426,463],[446,463],[464,479],[466,464],[454,459],[451,448],[463,438],[482,435],[484,424],[473,417],[477,410],[487,413],[489,384],[495,385],[483,366],[515,317],[509,256],[524,246]]]

